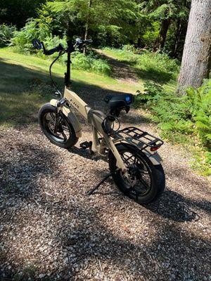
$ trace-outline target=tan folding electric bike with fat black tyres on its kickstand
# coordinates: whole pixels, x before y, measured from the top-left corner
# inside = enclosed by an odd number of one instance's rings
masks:
[[[51,143],[60,148],[73,147],[82,136],[82,126],[77,116],[72,111],[75,108],[91,126],[93,141],[81,143],[81,148],[89,149],[91,154],[99,154],[108,157],[110,174],[113,181],[124,195],[132,198],[139,204],[148,204],[160,197],[165,189],[165,173],[162,169],[162,159],[158,155],[158,149],[163,144],[160,138],[155,138],[146,131],[135,126],[120,129],[118,117],[122,110],[129,112],[130,105],[134,102],[132,94],[116,94],[105,97],[108,103],[107,114],[94,110],[71,89],[70,81],[70,54],[76,48],[82,48],[90,44],[91,40],[76,39],[75,44],[68,41],[67,48],[59,44],[51,50],[46,50],[44,44],[34,39],[32,44],[37,50],[44,51],[45,55],[58,52],[49,68],[51,81],[51,68],[60,55],[67,53],[67,71],[65,72],[65,91],[63,94],[56,88],[58,98],[50,100],[39,110],[39,125],[44,135]],[[115,126],[117,124],[117,128]],[[103,181],[106,181],[106,178]],[[88,191],[91,195],[99,188],[101,181],[93,189]]]

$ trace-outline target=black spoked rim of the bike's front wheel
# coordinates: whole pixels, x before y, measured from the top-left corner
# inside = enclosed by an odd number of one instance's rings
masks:
[[[46,112],[44,115],[44,129],[46,129],[49,137],[53,139],[53,141],[57,141],[58,143],[67,143],[67,141],[71,138],[71,129],[70,124],[68,124],[67,120],[60,115],[58,117],[58,130],[55,133],[55,112]]]

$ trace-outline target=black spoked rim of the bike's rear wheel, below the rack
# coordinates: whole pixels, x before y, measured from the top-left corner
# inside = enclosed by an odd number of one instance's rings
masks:
[[[146,196],[152,186],[152,172],[146,161],[136,152],[124,151],[120,153],[129,177],[122,174],[124,185],[127,186],[129,195],[138,199],[138,197]]]

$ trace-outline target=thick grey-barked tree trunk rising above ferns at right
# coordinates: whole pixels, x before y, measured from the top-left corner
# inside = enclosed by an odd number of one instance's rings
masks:
[[[178,90],[198,87],[210,72],[211,0],[192,0]]]

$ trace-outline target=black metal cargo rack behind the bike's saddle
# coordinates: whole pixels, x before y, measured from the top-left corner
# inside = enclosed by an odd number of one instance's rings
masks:
[[[141,150],[148,147],[152,148],[152,150],[156,150],[156,148],[158,149],[163,145],[163,141],[160,138],[155,138],[155,136],[150,133],[133,126],[117,131],[113,134],[113,138],[121,139],[130,144],[134,143],[134,145],[138,146]]]

